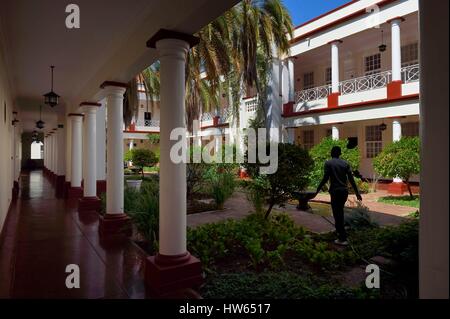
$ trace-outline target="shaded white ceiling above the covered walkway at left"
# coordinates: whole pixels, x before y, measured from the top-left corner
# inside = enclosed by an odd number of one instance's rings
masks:
[[[0,41],[24,130],[32,130],[39,119],[42,94],[50,91],[50,65],[55,65],[54,91],[61,103],[46,108],[48,121],[54,121],[48,129],[57,124],[55,113],[62,115],[65,108],[74,111],[82,101],[101,98],[104,81],[128,82],[151,65],[156,52],[146,41],[159,29],[192,34],[237,2],[78,0],[81,28],[67,29],[69,2],[2,0]]]

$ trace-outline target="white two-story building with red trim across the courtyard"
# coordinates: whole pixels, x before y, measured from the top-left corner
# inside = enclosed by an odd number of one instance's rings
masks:
[[[305,149],[327,136],[346,139],[361,151],[360,173],[375,178],[372,159],[383,147],[419,134],[418,63],[418,0],[350,1],[296,27],[290,56],[275,59],[272,67],[272,138]],[[127,146],[159,131],[159,104],[149,110],[141,95]],[[245,134],[258,107],[255,94],[248,95],[239,120],[233,120],[228,94],[219,111],[201,115],[203,144],[226,137],[242,143],[236,135]],[[392,186],[392,192],[402,191],[401,183]]]

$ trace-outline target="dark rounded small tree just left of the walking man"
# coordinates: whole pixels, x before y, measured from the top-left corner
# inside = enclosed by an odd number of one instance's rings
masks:
[[[269,147],[270,145],[267,145],[267,151]],[[257,181],[268,186],[261,188],[268,204],[265,218],[268,218],[275,205],[283,205],[292,197],[294,192],[304,190],[309,184],[308,172],[313,162],[308,152],[300,146],[289,143],[278,144],[278,168],[273,174],[261,175],[259,169],[262,165],[260,163],[249,163],[248,152],[245,158],[244,166],[250,177],[266,180]]]

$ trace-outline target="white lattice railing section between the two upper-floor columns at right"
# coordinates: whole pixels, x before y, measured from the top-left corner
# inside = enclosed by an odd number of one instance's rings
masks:
[[[391,71],[361,76],[339,83],[342,95],[386,87],[391,79]]]

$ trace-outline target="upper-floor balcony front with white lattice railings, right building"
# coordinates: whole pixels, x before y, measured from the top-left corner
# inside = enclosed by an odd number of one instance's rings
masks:
[[[401,69],[401,77],[403,86],[419,81],[419,65],[409,65]],[[339,83],[339,92],[341,98],[347,100],[346,95],[357,94],[360,92],[375,93],[373,98],[382,97],[385,94],[384,89],[392,80],[392,72],[383,71],[375,74],[364,75],[357,78],[344,80]],[[417,88],[418,89],[418,88]],[[408,89],[405,92],[414,92],[416,88]],[[327,97],[331,93],[331,85],[318,86],[295,93],[295,109],[294,112],[306,111],[313,108],[326,107]],[[418,91],[417,91],[418,93]],[[349,99],[350,100],[350,99]]]

